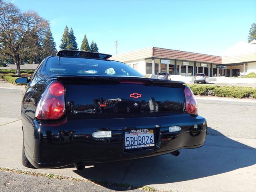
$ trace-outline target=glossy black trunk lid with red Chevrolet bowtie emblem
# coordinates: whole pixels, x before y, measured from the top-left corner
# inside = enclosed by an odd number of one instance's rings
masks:
[[[184,82],[136,77],[56,76],[68,115],[155,115],[184,112]],[[118,116],[116,116],[118,117]]]

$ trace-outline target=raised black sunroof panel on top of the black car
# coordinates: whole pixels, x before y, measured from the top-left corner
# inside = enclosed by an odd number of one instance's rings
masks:
[[[112,57],[112,55],[104,54],[104,53],[76,51],[76,50],[60,50],[58,51],[56,56],[75,57],[75,58],[94,58],[94,59],[96,58],[96,59],[104,59],[104,60]]]

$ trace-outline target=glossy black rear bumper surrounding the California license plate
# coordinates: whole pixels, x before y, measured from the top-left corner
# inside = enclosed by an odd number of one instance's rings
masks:
[[[189,114],[154,118],[68,119],[57,126],[40,124],[23,114],[22,121],[25,154],[36,168],[57,168],[76,162],[131,160],[167,154],[180,148],[197,148],[204,144],[207,133],[205,118]],[[180,126],[182,130],[170,133],[168,126]],[[156,146],[125,152],[123,133],[137,128],[154,128]],[[98,130],[111,130],[112,138],[92,138],[92,133]]]

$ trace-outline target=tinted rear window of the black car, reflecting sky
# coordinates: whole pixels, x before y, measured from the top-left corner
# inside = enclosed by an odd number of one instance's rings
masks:
[[[121,62],[86,58],[50,57],[45,70],[50,74],[144,77]]]

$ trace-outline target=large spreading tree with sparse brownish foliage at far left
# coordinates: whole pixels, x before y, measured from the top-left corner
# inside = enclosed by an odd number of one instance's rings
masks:
[[[42,45],[48,28],[48,21],[37,12],[28,11],[22,14],[14,4],[0,0],[0,54],[13,58],[18,76],[22,52],[31,54],[30,58],[36,57],[38,49],[34,46]],[[35,35],[36,38],[33,38]]]

